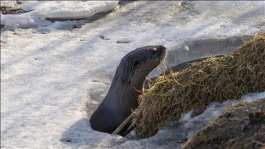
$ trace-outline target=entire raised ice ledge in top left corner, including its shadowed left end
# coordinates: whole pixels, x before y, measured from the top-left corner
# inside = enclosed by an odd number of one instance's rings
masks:
[[[48,26],[50,19],[86,19],[99,12],[115,9],[118,1],[23,1],[17,5],[15,1],[1,1],[1,6],[16,6],[28,11],[23,14],[1,14],[1,25],[10,28],[35,28]]]

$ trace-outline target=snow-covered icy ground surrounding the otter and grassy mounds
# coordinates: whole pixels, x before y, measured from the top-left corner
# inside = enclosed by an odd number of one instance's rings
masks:
[[[265,30],[264,1],[1,1],[1,148],[179,148],[226,105],[147,139],[90,128],[115,69],[135,48],[164,45],[175,66],[231,52]],[[111,11],[112,10],[112,11]],[[67,20],[70,19],[70,20]],[[155,77],[154,70],[149,77]],[[242,97],[262,99],[265,92]],[[87,119],[86,119],[87,118]],[[198,121],[200,124],[198,124]]]

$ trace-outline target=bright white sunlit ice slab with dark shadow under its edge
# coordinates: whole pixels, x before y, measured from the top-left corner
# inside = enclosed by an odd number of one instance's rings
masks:
[[[84,19],[99,12],[108,12],[118,1],[25,1],[23,10],[34,10],[32,15],[57,19]]]

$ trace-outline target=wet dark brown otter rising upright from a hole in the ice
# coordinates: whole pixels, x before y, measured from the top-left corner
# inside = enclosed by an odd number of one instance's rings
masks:
[[[90,117],[93,130],[112,133],[138,108],[146,76],[166,57],[164,46],[146,46],[126,54],[119,63],[108,94]],[[129,124],[128,124],[129,126]],[[121,135],[127,128],[121,130]]]

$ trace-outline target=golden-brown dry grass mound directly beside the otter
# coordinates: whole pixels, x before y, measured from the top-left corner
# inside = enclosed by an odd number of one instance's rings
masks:
[[[155,135],[166,123],[195,107],[265,91],[265,33],[244,41],[224,57],[193,63],[156,81],[139,97],[133,115],[140,137]]]

